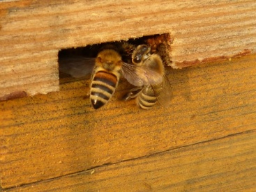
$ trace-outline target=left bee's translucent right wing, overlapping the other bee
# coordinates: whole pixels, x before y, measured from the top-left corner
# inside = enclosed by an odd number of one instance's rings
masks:
[[[129,63],[122,65],[123,77],[134,86],[149,86],[163,81],[163,77],[145,65],[138,66]]]

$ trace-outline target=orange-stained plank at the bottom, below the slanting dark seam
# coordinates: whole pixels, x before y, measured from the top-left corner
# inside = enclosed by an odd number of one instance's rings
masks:
[[[255,191],[256,131],[7,191]]]

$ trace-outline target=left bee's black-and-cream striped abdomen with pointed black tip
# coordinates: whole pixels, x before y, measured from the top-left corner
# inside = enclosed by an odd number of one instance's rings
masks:
[[[107,71],[98,71],[91,81],[90,99],[94,109],[106,104],[116,89],[119,78]]]

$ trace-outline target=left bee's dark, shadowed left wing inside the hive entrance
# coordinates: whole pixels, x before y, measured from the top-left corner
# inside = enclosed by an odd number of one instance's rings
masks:
[[[59,58],[59,70],[70,74],[72,77],[79,78],[91,74],[95,58],[86,58],[83,56],[65,56]]]

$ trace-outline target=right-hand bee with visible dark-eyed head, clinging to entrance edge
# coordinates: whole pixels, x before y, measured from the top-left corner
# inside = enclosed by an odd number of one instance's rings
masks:
[[[150,109],[156,102],[166,106],[172,98],[172,89],[170,82],[165,76],[165,67],[160,56],[158,54],[151,54],[151,47],[139,45],[133,51],[132,62],[139,67],[137,69],[151,69],[158,75],[155,74],[150,77],[149,75],[145,75],[143,70],[139,71],[137,72],[137,76],[141,79],[146,78],[142,83],[135,83],[133,79],[127,77],[130,83],[133,85],[137,84],[137,88],[131,89],[130,92],[125,95],[124,99],[136,99],[137,106],[140,106],[142,109]],[[140,72],[142,73],[140,74]]]

